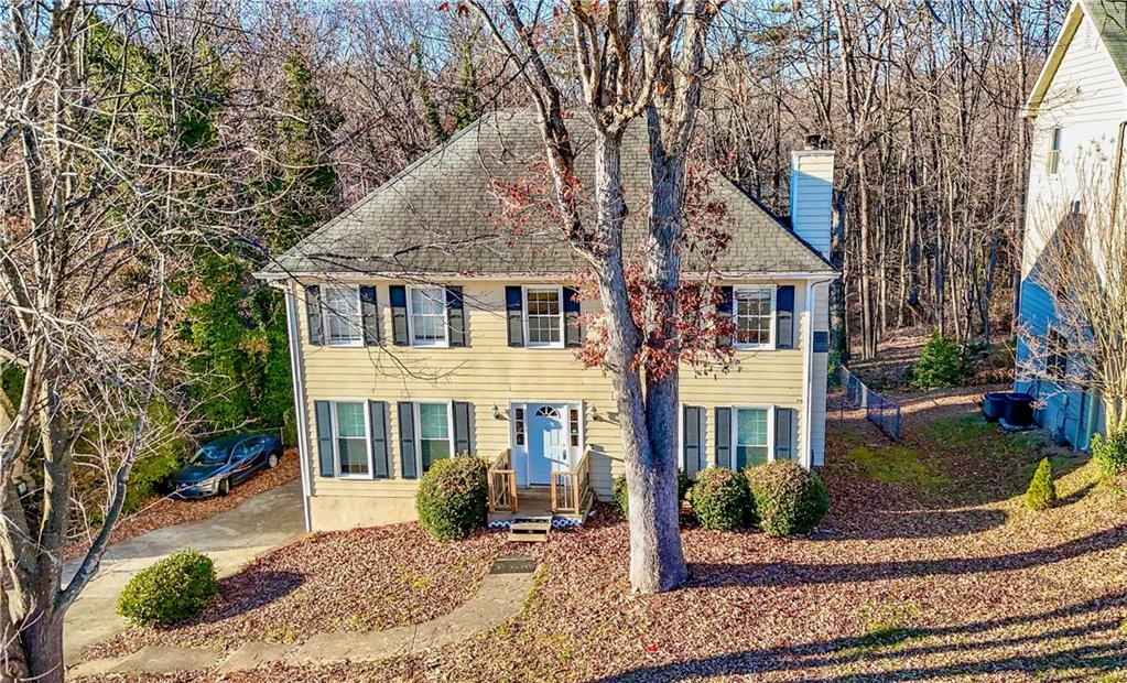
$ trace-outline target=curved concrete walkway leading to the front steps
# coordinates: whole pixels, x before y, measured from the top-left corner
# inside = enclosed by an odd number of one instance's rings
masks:
[[[376,662],[421,653],[492,630],[521,612],[532,591],[532,558],[498,558],[477,595],[450,614],[423,623],[370,632],[318,633],[301,646],[248,641],[225,658],[220,650],[149,646],[125,657],[92,659],[68,677],[208,669],[246,671],[263,664],[317,665]]]

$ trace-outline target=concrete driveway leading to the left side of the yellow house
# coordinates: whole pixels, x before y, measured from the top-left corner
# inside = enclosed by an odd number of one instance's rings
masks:
[[[303,532],[301,481],[294,480],[203,522],[158,529],[110,545],[97,576],[66,613],[64,656],[73,660],[83,647],[125,630],[125,620],[114,611],[117,595],[134,574],[160,558],[195,548],[211,557],[222,577]],[[68,562],[64,580],[77,569],[77,561]]]

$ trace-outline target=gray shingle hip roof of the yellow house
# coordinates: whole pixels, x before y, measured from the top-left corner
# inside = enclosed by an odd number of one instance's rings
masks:
[[[326,223],[265,268],[263,277],[364,273],[391,277],[426,275],[553,275],[582,267],[547,213],[514,229],[503,216],[497,183],[542,186],[543,143],[531,109],[487,114],[443,147],[403,169],[382,187]],[[589,122],[568,122],[580,177],[592,177]],[[644,124],[623,144],[623,181],[636,215],[627,221],[624,248],[640,245],[649,185]],[[715,269],[726,275],[827,273],[832,267],[786,224],[718,174],[708,197],[725,206],[719,228],[731,236]],[[591,187],[586,181],[585,187]],[[694,259],[698,263],[693,263]],[[707,259],[689,252],[689,270]]]

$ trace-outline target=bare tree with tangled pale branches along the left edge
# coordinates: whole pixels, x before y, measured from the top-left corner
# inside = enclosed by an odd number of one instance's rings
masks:
[[[170,295],[231,185],[193,147],[207,55],[178,6],[7,6],[0,114],[0,592],[5,680],[63,680],[63,618],[98,570],[149,419],[175,387]],[[183,21],[183,23],[181,23]],[[223,145],[215,145],[222,148]],[[211,170],[208,170],[211,169]],[[197,223],[198,221],[198,223]],[[77,471],[106,479],[69,576]],[[79,516],[81,518],[81,515]]]

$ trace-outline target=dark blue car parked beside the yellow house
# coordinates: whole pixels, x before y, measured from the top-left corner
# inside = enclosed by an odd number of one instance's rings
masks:
[[[282,459],[282,442],[267,434],[224,436],[199,446],[188,463],[172,474],[172,495],[179,498],[225,496],[231,487]]]

